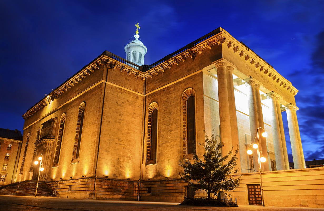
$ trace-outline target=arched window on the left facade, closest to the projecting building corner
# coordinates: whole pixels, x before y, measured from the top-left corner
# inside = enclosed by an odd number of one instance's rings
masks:
[[[72,162],[73,162],[73,160],[79,158],[85,109],[86,109],[86,104],[83,102],[83,103],[81,103],[81,105],[79,107],[79,112],[78,112],[78,119],[77,119],[77,123],[76,123],[76,132],[75,132],[75,139],[74,139],[74,147],[73,147],[73,153],[72,153]]]

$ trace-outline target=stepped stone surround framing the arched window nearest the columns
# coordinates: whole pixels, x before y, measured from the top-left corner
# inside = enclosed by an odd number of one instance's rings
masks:
[[[187,114],[187,101],[190,97],[193,97],[193,106],[194,106],[194,111],[193,111],[193,135],[194,135],[194,142],[192,143],[192,146],[188,146],[188,114]],[[192,98],[190,98],[192,100]],[[196,134],[196,92],[192,88],[186,89],[181,98],[181,111],[182,111],[182,119],[181,119],[181,125],[182,125],[182,157],[184,159],[190,159],[193,157],[193,154],[196,152],[196,146],[197,146],[197,134]],[[192,138],[192,137],[190,137]],[[193,153],[188,153],[188,148],[193,149]]]

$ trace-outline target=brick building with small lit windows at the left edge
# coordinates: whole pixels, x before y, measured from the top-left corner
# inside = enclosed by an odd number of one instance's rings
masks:
[[[21,143],[20,130],[0,128],[0,186],[15,180]]]

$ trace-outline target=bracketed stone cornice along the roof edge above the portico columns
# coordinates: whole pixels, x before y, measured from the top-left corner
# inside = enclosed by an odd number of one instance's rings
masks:
[[[264,61],[259,56],[255,55],[251,51],[248,51],[246,48],[242,47],[242,44],[234,40],[225,33],[222,34],[223,40],[225,39],[224,44],[228,48],[232,48],[234,53],[237,53],[238,56],[244,58],[245,61],[249,61],[249,65],[254,66],[260,72],[263,72],[264,75],[267,75],[272,81],[275,81],[283,88],[287,89],[292,95],[296,95],[298,90],[295,89],[284,77],[282,77],[274,68],[272,68],[266,61]]]

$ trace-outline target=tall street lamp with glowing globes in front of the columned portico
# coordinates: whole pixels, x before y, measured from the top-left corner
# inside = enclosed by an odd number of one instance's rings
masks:
[[[261,133],[261,129],[262,129],[262,133]],[[250,146],[252,145],[252,147],[254,149],[257,150],[257,154],[258,154],[258,163],[259,163],[259,172],[260,172],[260,181],[261,181],[261,197],[262,197],[262,206],[264,206],[264,199],[263,199],[263,185],[262,185],[262,169],[261,169],[261,162],[264,163],[266,161],[266,158],[261,156],[262,155],[262,151],[259,150],[259,146],[260,146],[260,133],[263,137],[267,137],[268,134],[266,132],[264,132],[264,129],[263,128],[258,128],[257,130],[257,136],[254,138],[254,143],[250,143],[249,144],[249,149],[247,151],[247,154],[248,155],[252,155],[253,151],[250,150]],[[257,141],[256,141],[257,140]]]

